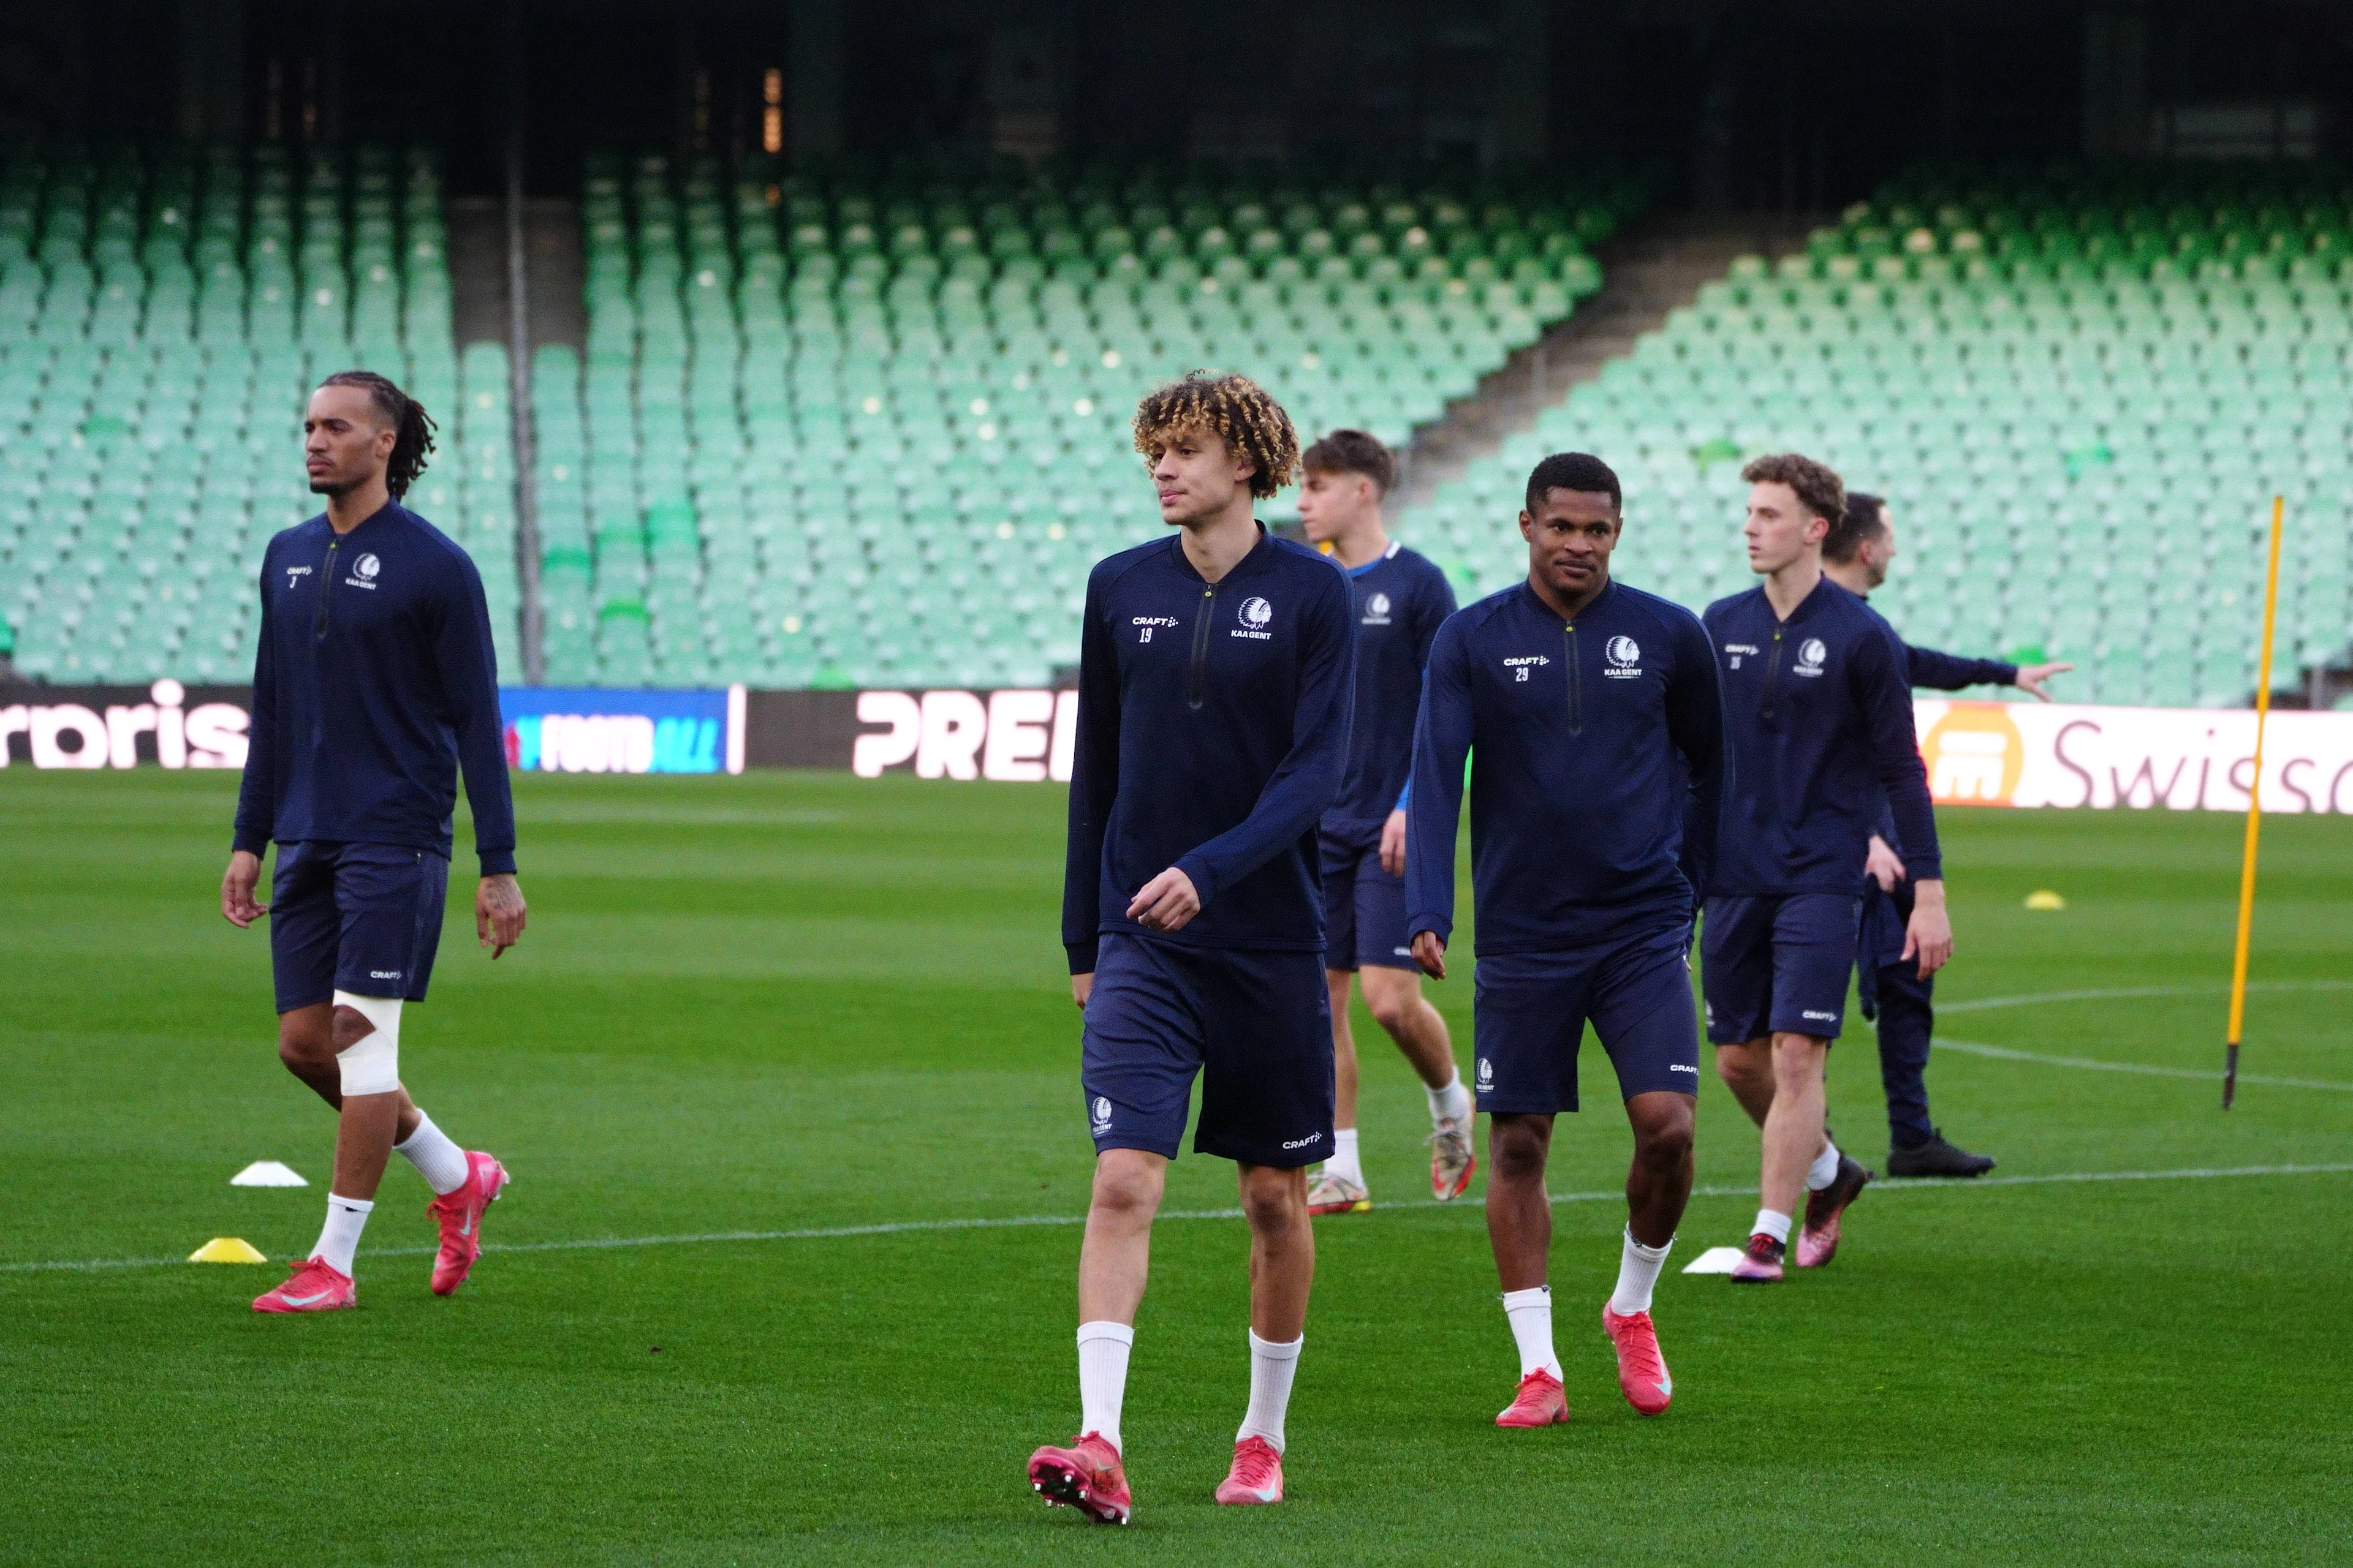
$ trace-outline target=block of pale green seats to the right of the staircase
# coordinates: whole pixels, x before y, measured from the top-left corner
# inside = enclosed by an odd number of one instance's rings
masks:
[[[1529,463],[1584,447],[1626,482],[1621,576],[1699,607],[1751,581],[1741,461],[1802,449],[1894,503],[1873,604],[1913,642],[2073,658],[2078,701],[2238,705],[2282,494],[2275,684],[2344,701],[2348,202],[2329,165],[1906,176],[1737,259],[1400,531],[1508,583]]]

